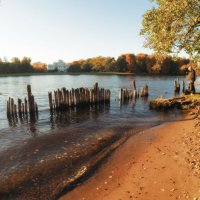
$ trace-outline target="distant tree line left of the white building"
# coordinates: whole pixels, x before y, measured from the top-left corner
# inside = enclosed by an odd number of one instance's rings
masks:
[[[45,63],[37,62],[31,64],[29,57],[19,59],[14,57],[11,61],[0,58],[0,74],[15,74],[15,73],[33,73],[33,72],[45,72],[47,71],[47,65]]]

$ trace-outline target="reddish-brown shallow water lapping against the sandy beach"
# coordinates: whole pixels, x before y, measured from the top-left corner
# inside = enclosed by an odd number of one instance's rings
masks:
[[[130,135],[156,124],[77,127],[9,148],[0,153],[0,199],[57,199],[64,189],[87,178]]]

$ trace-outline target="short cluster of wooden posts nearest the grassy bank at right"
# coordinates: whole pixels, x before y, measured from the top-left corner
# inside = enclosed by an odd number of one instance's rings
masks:
[[[119,89],[119,101],[120,102],[130,100],[133,97],[134,98],[138,98],[139,96],[140,97],[148,97],[149,91],[148,91],[147,85],[142,87],[140,89],[140,91],[139,90],[137,91],[136,82],[135,82],[135,80],[132,80],[132,86],[133,86],[133,89],[128,89],[128,88],[125,88],[125,89],[120,88]]]

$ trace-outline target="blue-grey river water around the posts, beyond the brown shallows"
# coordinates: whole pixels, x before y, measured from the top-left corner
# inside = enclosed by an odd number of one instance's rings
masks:
[[[131,88],[132,79],[136,80],[137,88],[145,84],[149,86],[149,98],[172,97],[173,81],[176,77],[151,77],[151,76],[96,76],[96,75],[58,75],[58,76],[22,76],[0,78],[0,150],[12,143],[16,144],[29,137],[49,134],[56,129],[69,129],[81,124],[96,124],[102,127],[123,123],[141,123],[144,121],[162,120],[168,117],[148,109],[144,101],[131,102],[127,106],[119,107],[119,88]],[[95,82],[100,87],[110,89],[111,103],[107,108],[75,110],[65,116],[52,118],[48,106],[48,92],[57,88],[67,89],[79,87],[92,87]],[[39,119],[33,122],[19,121],[10,124],[6,115],[6,102],[9,97],[17,100],[27,96],[26,85],[32,86],[32,93],[39,108]],[[165,120],[165,119],[163,119]],[[86,125],[87,126],[87,125]],[[15,135],[13,136],[13,132]],[[6,134],[5,134],[6,133]]]

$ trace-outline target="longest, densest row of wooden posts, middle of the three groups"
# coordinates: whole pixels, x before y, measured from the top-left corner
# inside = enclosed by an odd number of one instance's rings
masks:
[[[92,105],[110,102],[110,90],[99,88],[95,83],[92,89],[77,88],[67,90],[66,88],[49,92],[49,107],[51,111],[62,111],[69,107]]]

